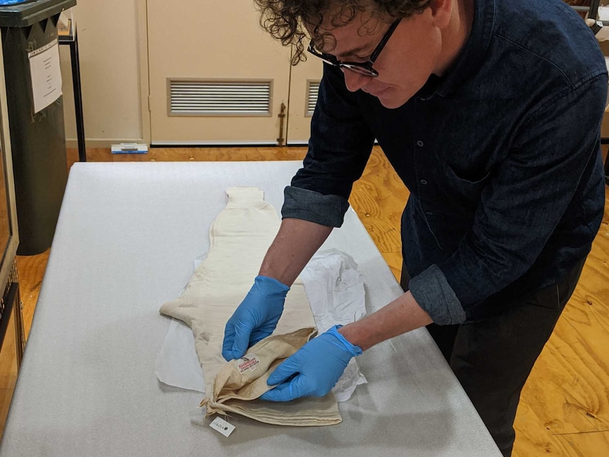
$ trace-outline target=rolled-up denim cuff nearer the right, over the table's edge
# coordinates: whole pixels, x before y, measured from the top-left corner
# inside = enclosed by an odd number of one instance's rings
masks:
[[[466,320],[461,301],[437,265],[430,266],[412,278],[408,287],[419,306],[430,315],[435,324],[461,324]]]

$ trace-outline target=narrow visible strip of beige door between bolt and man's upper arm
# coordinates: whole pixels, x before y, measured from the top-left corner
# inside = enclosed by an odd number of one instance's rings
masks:
[[[321,59],[309,55],[307,61],[292,66],[288,110],[288,144],[307,144],[317,89],[323,73]]]

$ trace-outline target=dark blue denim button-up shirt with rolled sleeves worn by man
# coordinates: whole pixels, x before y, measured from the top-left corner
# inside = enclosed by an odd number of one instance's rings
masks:
[[[402,107],[324,67],[283,217],[339,227],[377,138],[410,190],[402,249],[420,307],[437,324],[501,314],[591,249],[607,85],[593,33],[561,0],[475,0],[459,57]]]

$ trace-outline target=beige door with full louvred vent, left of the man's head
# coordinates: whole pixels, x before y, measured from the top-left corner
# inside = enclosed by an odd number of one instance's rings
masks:
[[[152,143],[275,144],[290,49],[261,29],[252,0],[147,7]]]

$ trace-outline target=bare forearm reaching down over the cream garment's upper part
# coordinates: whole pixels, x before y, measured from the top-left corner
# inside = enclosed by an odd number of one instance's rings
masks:
[[[308,220],[284,219],[273,244],[266,252],[259,275],[292,285],[331,232],[332,227]]]

